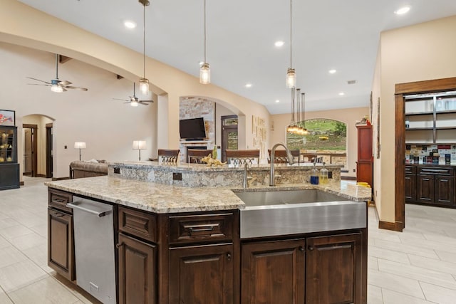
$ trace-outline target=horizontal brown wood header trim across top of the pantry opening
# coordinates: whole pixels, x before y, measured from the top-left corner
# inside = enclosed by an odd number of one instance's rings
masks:
[[[456,77],[415,81],[413,83],[396,83],[395,95],[455,90],[455,88]]]

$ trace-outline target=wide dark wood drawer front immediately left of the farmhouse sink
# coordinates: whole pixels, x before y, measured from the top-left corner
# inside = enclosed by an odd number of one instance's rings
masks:
[[[170,244],[231,240],[233,221],[232,213],[170,216]]]

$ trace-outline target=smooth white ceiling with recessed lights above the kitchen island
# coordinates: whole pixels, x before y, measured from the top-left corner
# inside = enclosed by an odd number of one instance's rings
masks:
[[[19,1],[142,53],[138,0]],[[146,56],[198,77],[204,0],[150,2]],[[404,5],[410,6],[408,14],[394,13]],[[290,26],[292,67],[297,87],[306,93],[306,110],[329,110],[369,105],[381,31],[456,15],[455,0],[293,0],[291,24],[289,0],[207,0],[206,7],[212,83],[265,105],[271,114],[291,112],[285,86]],[[127,20],[137,27],[125,28]],[[274,46],[276,41],[284,46]],[[328,73],[331,69],[336,73]],[[146,78],[150,73],[146,67]]]

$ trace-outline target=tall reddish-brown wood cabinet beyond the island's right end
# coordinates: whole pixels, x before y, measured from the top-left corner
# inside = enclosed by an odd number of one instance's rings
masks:
[[[358,162],[356,182],[367,182],[373,187],[372,126],[358,125]]]

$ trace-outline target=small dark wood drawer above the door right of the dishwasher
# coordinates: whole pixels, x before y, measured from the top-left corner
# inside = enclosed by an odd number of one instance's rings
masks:
[[[119,206],[119,231],[147,241],[157,241],[157,217],[145,211]]]

